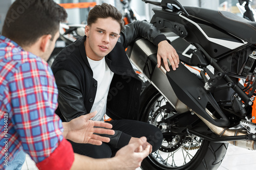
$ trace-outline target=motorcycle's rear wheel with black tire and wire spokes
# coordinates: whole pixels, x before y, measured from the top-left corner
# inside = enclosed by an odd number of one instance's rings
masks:
[[[162,145],[142,162],[143,169],[216,169],[227,150],[226,143],[212,143],[188,133],[176,133],[175,122],[180,115],[153,85],[141,93],[141,120],[158,127],[163,134]],[[213,160],[213,162],[212,162]]]

